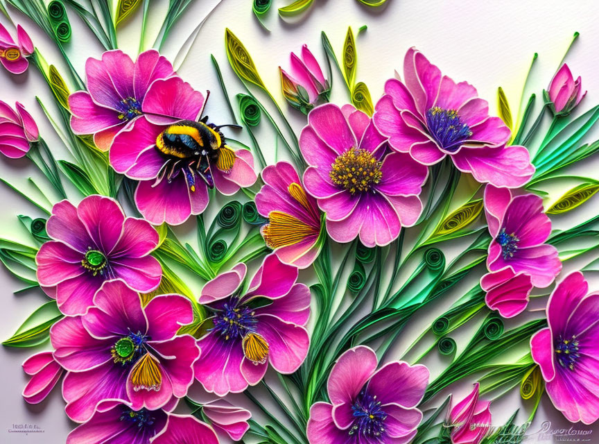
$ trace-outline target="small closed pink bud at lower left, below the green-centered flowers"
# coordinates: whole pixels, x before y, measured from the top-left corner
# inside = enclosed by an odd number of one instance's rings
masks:
[[[23,398],[29,404],[45,400],[63,373],[52,352],[40,352],[28,357],[23,363],[23,370],[31,375],[23,390]]]

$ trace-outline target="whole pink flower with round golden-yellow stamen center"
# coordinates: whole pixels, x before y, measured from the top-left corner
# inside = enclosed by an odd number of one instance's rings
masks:
[[[299,135],[309,164],[304,187],[318,200],[327,231],[338,242],[359,235],[367,247],[387,245],[422,212],[418,196],[428,169],[407,154],[385,154],[385,140],[351,105],[314,108]],[[361,176],[354,177],[355,171]]]

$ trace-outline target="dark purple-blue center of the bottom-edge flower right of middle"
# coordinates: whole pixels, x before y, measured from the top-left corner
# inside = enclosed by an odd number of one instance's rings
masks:
[[[349,428],[350,436],[366,438],[369,443],[383,443],[387,414],[381,409],[381,401],[364,390],[351,406],[354,423]]]

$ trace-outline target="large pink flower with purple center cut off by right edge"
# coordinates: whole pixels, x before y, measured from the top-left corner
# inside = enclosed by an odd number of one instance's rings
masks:
[[[584,424],[599,418],[599,293],[588,291],[580,271],[567,275],[549,297],[549,327],[530,339],[553,405]]]

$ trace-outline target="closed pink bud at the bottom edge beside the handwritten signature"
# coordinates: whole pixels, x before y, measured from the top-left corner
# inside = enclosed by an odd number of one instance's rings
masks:
[[[453,444],[478,444],[491,428],[491,402],[478,399],[478,386],[477,382],[474,390],[451,409]]]

